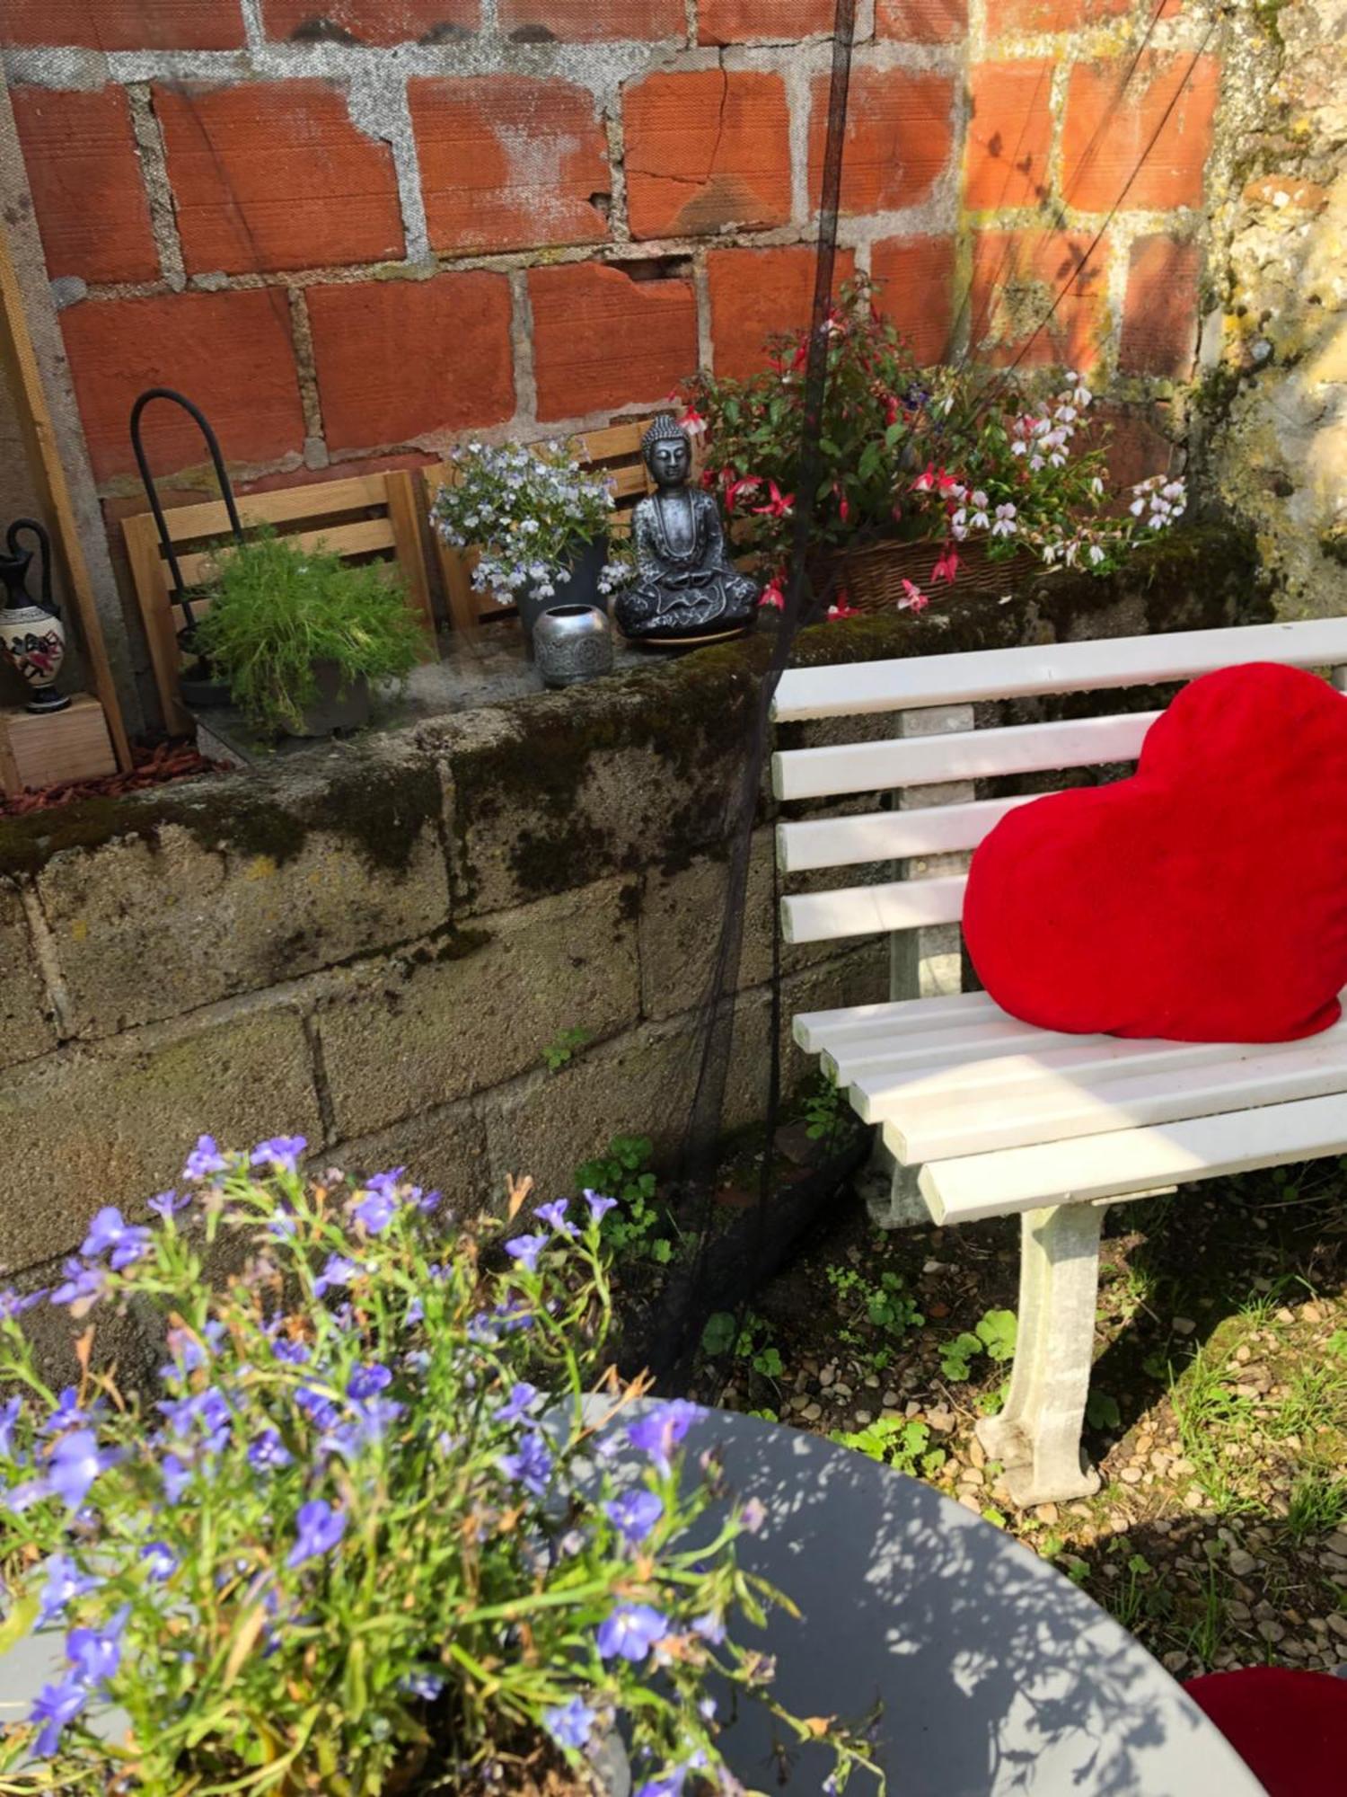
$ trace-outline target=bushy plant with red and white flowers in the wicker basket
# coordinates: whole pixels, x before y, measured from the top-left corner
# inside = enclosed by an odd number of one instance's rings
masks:
[[[921,370],[866,280],[842,289],[828,334],[821,548],[930,543],[927,586],[936,589],[957,580],[970,541],[993,561],[1031,550],[1049,566],[1106,573],[1149,530],[1182,516],[1184,483],[1162,474],[1133,487],[1130,505],[1110,492],[1106,429],[1092,424],[1083,435],[1094,395],[1078,374],[1020,383],[968,367]],[[706,428],[704,480],[720,491],[740,546],[758,552],[769,575],[763,604],[781,606],[808,338],[778,336],[769,347],[769,372],[700,374],[690,404]],[[930,591],[909,584],[900,604],[921,609]],[[830,616],[848,611],[842,595]]]

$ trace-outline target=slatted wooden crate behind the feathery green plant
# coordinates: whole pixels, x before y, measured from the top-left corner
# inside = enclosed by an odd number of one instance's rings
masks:
[[[192,598],[192,611],[203,613],[208,609],[208,602],[198,598],[194,589],[208,584],[216,552],[230,541],[230,518],[224,501],[174,507],[165,512],[165,518],[178,553],[178,566]],[[286,487],[280,492],[250,494],[239,500],[239,518],[244,530],[251,525],[273,525],[280,536],[302,548],[321,544],[343,561],[365,561],[377,555],[395,564],[408,589],[408,602],[417,611],[426,633],[426,659],[436,658],[435,613],[426,579],[417,487],[406,469],[313,482],[305,487]],[[192,717],[178,690],[183,661],[178,631],[187,620],[181,606],[174,604],[172,598],[169,564],[163,559],[158,528],[149,512],[140,512],[122,519],[122,534],[140,616],[149,638],[163,721],[174,733],[190,731],[194,728]]]

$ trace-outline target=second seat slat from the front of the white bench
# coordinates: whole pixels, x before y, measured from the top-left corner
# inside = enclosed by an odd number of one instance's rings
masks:
[[[1020,1057],[1017,1057],[1020,1058]],[[1108,1130],[1180,1123],[1254,1105],[1322,1098],[1347,1089],[1347,1028],[1306,1042],[1232,1048],[1205,1055],[1122,1058],[1112,1067],[1034,1067],[968,1102],[968,1093],[921,1096],[891,1107],[884,1139],[903,1163],[943,1161],[1033,1143],[1101,1136]],[[932,1082],[934,1084],[934,1082]]]

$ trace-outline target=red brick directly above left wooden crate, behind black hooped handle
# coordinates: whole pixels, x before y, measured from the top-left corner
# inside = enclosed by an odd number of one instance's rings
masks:
[[[128,419],[147,386],[190,394],[230,462],[271,462],[304,446],[289,302],[277,289],[86,300],[61,313],[61,331],[99,480],[135,469]],[[160,476],[207,458],[178,406],[149,408],[145,449]]]

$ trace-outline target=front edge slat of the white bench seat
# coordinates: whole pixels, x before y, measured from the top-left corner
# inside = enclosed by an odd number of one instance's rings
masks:
[[[1340,1093],[1185,1123],[1110,1130],[1079,1141],[929,1161],[921,1168],[921,1191],[936,1222],[975,1222],[1329,1154],[1347,1154],[1347,1102]]]

